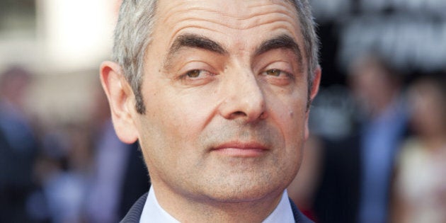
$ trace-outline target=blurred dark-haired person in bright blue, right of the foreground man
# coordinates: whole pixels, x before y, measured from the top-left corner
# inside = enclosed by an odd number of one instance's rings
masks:
[[[408,119],[401,76],[383,57],[367,55],[353,64],[350,81],[365,115],[360,130],[358,221],[387,222],[394,158]]]

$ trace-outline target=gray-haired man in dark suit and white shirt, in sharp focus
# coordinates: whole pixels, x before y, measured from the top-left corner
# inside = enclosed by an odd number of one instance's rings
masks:
[[[101,81],[151,188],[124,222],[309,222],[287,196],[321,77],[307,1],[122,1]]]

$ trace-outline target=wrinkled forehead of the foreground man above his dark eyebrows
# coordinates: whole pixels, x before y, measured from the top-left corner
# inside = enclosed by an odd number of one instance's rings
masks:
[[[241,46],[249,45],[253,39],[289,34],[303,44],[295,6],[285,0],[160,0],[154,40],[161,35],[170,45],[181,33],[213,35],[219,41],[238,42]]]

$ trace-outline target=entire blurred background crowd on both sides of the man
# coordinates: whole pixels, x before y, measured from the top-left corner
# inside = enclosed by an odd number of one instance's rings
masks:
[[[313,103],[290,197],[316,222],[446,222],[445,80],[356,58]],[[42,123],[23,106],[32,81],[0,75],[0,222],[118,222],[149,188],[137,144],[116,137],[99,84],[86,122]]]

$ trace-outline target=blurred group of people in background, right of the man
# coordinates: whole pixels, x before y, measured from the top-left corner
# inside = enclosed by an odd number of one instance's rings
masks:
[[[316,222],[446,222],[446,72],[404,75],[367,52],[346,82],[314,102],[291,198]],[[344,126],[324,131],[327,117]]]

